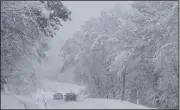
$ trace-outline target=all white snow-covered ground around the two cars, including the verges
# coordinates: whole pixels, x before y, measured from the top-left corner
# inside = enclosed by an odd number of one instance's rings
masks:
[[[46,81],[46,86],[34,94],[34,98],[27,96],[15,96],[1,93],[2,109],[24,109],[25,105],[28,109],[44,109],[45,103],[49,109],[148,109],[142,105],[132,104],[130,102],[115,99],[96,99],[80,97],[76,102],[64,102],[63,100],[53,100],[52,96],[55,92],[63,94],[73,91],[80,92],[83,87],[75,84],[57,83]],[[152,108],[149,108],[152,109]]]

